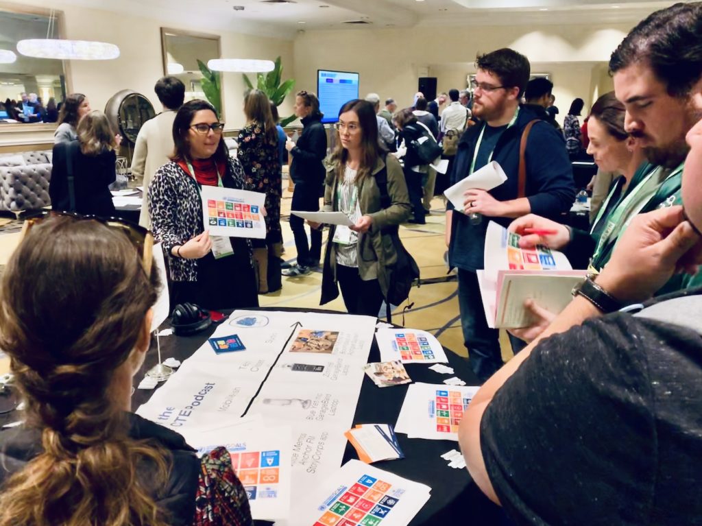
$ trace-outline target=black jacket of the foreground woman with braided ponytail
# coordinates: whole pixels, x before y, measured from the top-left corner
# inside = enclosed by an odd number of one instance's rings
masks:
[[[156,485],[152,463],[137,467],[137,478],[150,490],[157,506],[168,513],[171,526],[190,526],[195,515],[195,495],[200,461],[185,439],[157,423],[128,413],[129,436],[134,440],[150,439],[171,452],[171,470],[165,484]],[[41,430],[17,427],[0,431],[0,485],[41,453]]]

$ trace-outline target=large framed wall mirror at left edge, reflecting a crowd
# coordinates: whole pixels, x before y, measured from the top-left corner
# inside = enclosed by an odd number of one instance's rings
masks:
[[[16,55],[13,63],[0,63],[1,123],[37,125],[58,119],[58,105],[68,91],[64,62],[25,57],[17,51],[17,43],[22,39],[60,39],[62,27],[61,11],[0,4],[0,50]],[[22,103],[22,93],[29,94],[29,103]]]

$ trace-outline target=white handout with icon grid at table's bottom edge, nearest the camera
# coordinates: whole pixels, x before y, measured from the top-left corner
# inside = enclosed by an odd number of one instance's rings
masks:
[[[350,460],[294,501],[286,525],[406,526],[430,492],[428,485]]]

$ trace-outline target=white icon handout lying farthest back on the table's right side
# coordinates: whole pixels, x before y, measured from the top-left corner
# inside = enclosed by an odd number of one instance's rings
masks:
[[[402,363],[435,364],[446,363],[446,353],[435,336],[419,329],[378,329],[376,341],[380,349],[380,360]]]

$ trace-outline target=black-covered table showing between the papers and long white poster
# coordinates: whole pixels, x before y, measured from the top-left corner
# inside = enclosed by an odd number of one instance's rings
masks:
[[[254,309],[256,310],[256,309]],[[260,308],[258,310],[294,311],[291,308]],[[339,314],[329,310],[309,309],[306,312]],[[230,313],[230,311],[225,311]],[[170,327],[168,322],[161,328]],[[161,336],[161,359],[174,357],[176,360],[186,360],[211,336],[216,326],[201,331],[192,336]],[[469,386],[478,385],[475,375],[468,367],[468,362],[461,357],[446,353],[449,367],[453,367],[455,375],[465,381]],[[375,338],[371,346],[369,362],[380,361],[380,350]],[[147,353],[145,364],[136,375],[134,385],[143,379],[146,371],[157,364],[157,350],[155,341]],[[442,383],[452,375],[439,374],[428,369],[424,364],[406,364],[410,378],[415,382]],[[162,383],[159,386],[163,385]],[[364,375],[361,393],[356,407],[353,424],[358,423],[391,423],[397,421],[404,396],[409,384],[378,388],[367,375]],[[157,387],[158,388],[158,387]],[[132,396],[132,409],[150,399],[154,390],[137,389]],[[472,482],[468,471],[465,469],[449,468],[448,462],[440,455],[458,449],[458,442],[452,440],[424,440],[420,438],[407,438],[406,435],[397,434],[399,445],[405,458],[393,461],[373,463],[373,466],[390,471],[396,475],[422,482],[429,485],[431,498],[410,522],[410,526],[430,525],[476,525],[492,526],[505,523],[501,508],[491,503],[475,483]],[[347,442],[343,462],[357,459],[355,449]],[[256,521],[257,525],[267,522]]]

